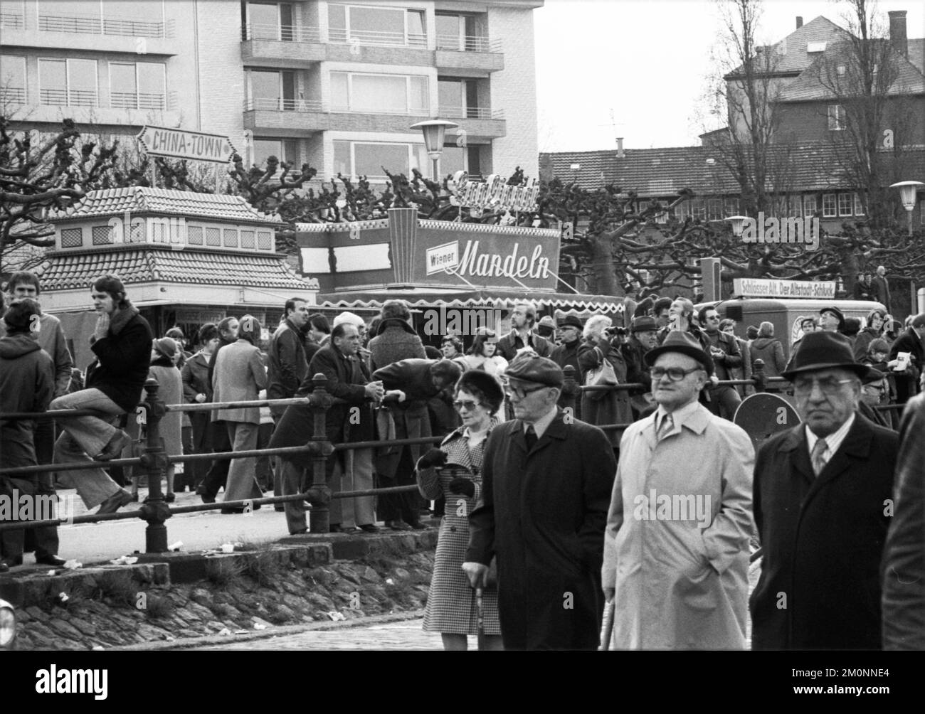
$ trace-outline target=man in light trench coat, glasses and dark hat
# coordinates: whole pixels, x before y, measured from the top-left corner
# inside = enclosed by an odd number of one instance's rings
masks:
[[[656,412],[623,434],[604,533],[612,645],[744,649],[755,450],[697,402],[712,374],[696,339],[648,351]]]

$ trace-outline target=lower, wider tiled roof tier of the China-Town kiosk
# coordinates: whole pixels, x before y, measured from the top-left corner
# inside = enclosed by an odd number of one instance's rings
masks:
[[[93,252],[50,252],[42,270],[43,289],[89,289],[106,273],[126,284],[153,281],[251,288],[318,289],[314,278],[297,277],[282,256],[233,252],[170,251],[151,248]]]

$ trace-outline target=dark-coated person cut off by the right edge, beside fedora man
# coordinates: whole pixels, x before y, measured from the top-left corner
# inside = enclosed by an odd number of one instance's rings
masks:
[[[925,649],[925,394],[900,426],[895,510],[883,553],[883,648]]]

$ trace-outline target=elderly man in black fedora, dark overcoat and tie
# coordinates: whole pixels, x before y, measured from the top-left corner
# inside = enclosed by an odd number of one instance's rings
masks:
[[[813,332],[783,376],[802,424],[761,445],[754,503],[764,556],[753,649],[878,649],[880,565],[898,438],[857,412],[870,368]]]

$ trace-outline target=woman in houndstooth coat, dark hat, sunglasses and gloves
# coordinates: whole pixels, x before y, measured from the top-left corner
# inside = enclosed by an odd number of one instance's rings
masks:
[[[417,486],[424,498],[446,499],[424,629],[442,634],[448,650],[465,649],[466,635],[478,632],[475,590],[462,571],[462,560],[469,545],[469,514],[482,488],[482,453],[488,434],[499,424],[495,414],[503,400],[495,377],[466,372],[456,384],[454,401],[462,426],[417,462]],[[497,589],[486,589],[482,606],[487,648],[501,649]]]

